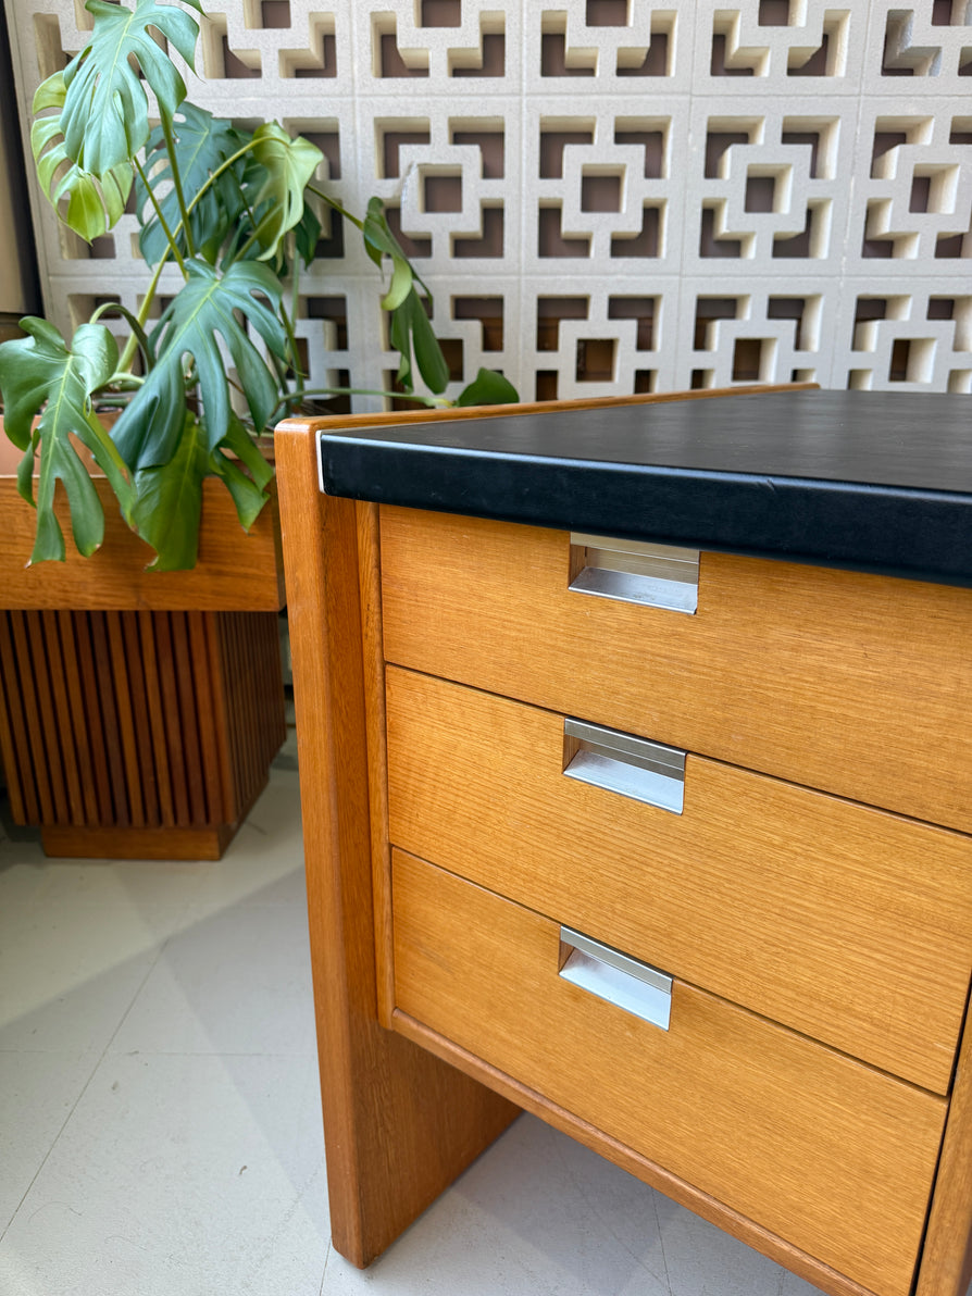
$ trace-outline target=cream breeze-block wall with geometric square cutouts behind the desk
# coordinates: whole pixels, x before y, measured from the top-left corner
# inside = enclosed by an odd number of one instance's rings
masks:
[[[26,139],[89,19],[4,3]],[[351,210],[385,200],[448,395],[480,365],[530,399],[972,390],[967,0],[215,4],[191,98],[307,135]],[[88,248],[31,206],[58,325],[137,307],[133,216]],[[390,385],[380,297],[356,231],[325,220],[298,293],[312,386]]]

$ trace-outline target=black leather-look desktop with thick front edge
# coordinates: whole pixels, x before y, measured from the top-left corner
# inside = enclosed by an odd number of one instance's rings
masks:
[[[333,495],[972,586],[966,395],[776,391],[319,435]]]

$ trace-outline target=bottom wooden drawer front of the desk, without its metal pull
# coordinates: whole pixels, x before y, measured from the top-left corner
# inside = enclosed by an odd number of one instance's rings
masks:
[[[675,982],[660,1030],[557,976],[560,928],[394,853],[398,1007],[881,1296],[946,1103]]]

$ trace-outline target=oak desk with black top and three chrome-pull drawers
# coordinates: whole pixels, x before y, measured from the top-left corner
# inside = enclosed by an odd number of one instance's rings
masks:
[[[964,1296],[969,412],[279,430],[349,1258],[522,1107],[833,1296]]]

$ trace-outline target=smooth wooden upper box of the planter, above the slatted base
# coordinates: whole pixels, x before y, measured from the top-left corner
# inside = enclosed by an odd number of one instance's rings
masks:
[[[276,499],[246,535],[233,502],[215,478],[202,483],[200,561],[192,572],[146,572],[152,550],[126,525],[104,478],[95,489],[105,508],[105,540],[89,559],[67,542],[65,562],[27,566],[36,513],[17,494],[17,481],[0,476],[0,607],[91,610],[266,610],[283,607],[283,568]],[[57,513],[67,524],[58,495]]]

